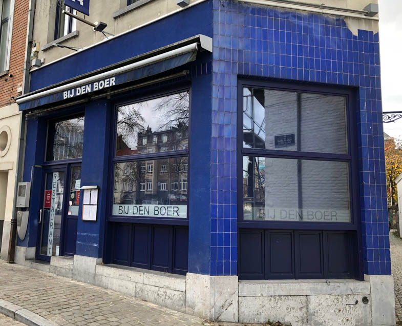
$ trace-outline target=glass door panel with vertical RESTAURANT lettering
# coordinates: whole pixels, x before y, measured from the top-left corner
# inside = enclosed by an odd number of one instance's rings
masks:
[[[44,205],[40,221],[40,255],[50,257],[58,256],[60,253],[64,184],[64,171],[46,173]]]

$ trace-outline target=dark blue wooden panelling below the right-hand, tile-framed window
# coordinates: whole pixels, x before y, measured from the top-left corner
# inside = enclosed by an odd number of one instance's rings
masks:
[[[240,229],[239,278],[358,278],[355,242],[355,231]]]

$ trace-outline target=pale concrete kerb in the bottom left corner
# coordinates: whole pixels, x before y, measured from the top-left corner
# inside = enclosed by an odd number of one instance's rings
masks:
[[[0,313],[29,326],[57,326],[53,321],[3,299],[0,299]]]

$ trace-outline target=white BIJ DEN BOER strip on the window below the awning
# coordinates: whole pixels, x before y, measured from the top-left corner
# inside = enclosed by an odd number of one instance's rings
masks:
[[[186,218],[187,205],[113,205],[113,215]]]

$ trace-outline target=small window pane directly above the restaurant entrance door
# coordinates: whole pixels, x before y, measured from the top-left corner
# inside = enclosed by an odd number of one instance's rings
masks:
[[[46,160],[82,157],[84,117],[49,121]]]

